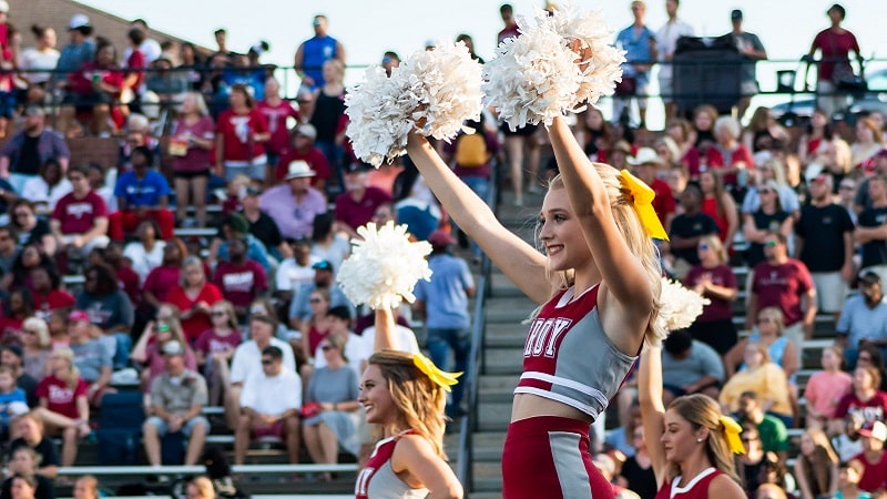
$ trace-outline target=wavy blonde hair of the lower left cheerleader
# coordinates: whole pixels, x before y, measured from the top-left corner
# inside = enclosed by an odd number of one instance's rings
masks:
[[[387,429],[392,434],[412,429],[447,460],[443,454],[447,391],[416,367],[410,354],[383,350],[373,354],[368,364],[379,367],[395,404],[396,420],[387,421]]]

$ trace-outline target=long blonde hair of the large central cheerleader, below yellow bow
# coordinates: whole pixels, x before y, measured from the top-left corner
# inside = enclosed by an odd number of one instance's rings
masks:
[[[660,294],[662,293],[662,267],[660,266],[656,247],[643,226],[641,226],[641,221],[634,211],[634,196],[622,184],[619,171],[609,164],[593,163],[593,165],[610,198],[610,210],[619,233],[625,240],[631,254],[641,262],[646,273],[650,292],[653,296],[653,307],[650,310],[650,322],[644,333],[644,340],[650,345],[659,345],[665,339],[666,332],[656,320],[661,308]],[[549,183],[549,191],[554,189],[563,189],[563,179],[560,175],[554,176]],[[572,273],[565,273],[563,278],[564,285],[571,284],[573,281]]]

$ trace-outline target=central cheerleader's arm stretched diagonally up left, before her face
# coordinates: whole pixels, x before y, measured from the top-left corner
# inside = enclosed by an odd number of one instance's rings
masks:
[[[539,304],[548,302],[554,283],[548,275],[546,257],[502,226],[489,206],[452,173],[424,136],[410,134],[407,152],[459,227],[523,294]]]

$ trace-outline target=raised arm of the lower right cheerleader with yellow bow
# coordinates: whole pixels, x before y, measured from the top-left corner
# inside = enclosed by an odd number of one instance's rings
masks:
[[[638,371],[638,401],[641,405],[641,419],[644,426],[644,440],[653,472],[656,476],[656,490],[665,481],[667,461],[662,447],[665,430],[665,406],[662,404],[662,349],[646,346],[641,355]]]

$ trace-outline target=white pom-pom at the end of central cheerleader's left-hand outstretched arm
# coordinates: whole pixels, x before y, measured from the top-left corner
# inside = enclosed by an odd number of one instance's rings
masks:
[[[346,133],[355,154],[379,166],[406,153],[412,130],[455,138],[466,120],[480,119],[480,73],[462,42],[416,51],[390,78],[379,67],[367,69],[364,81],[345,95]]]

